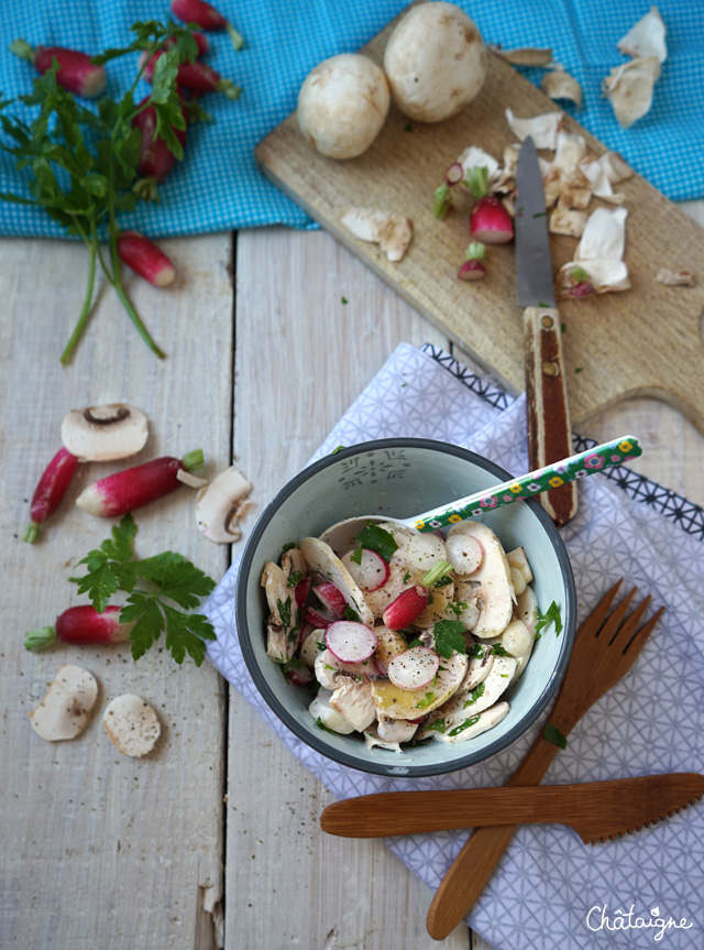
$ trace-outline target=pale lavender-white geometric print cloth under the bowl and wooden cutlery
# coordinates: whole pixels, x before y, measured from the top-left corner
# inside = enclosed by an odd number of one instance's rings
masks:
[[[618,435],[618,434],[615,434]],[[475,367],[426,345],[402,343],[314,456],[391,436],[433,438],[527,471],[522,396],[504,393]],[[575,436],[575,450],[587,443]],[[623,594],[652,596],[667,610],[636,665],[580,720],[544,783],[704,772],[704,512],[626,468],[584,479],[580,510],[562,537],[575,576],[581,622],[619,578]],[[471,768],[418,779],[349,768],[309,749],[271,712],[252,683],[234,626],[239,558],[205,605],[218,640],[211,662],[290,751],[338,798],[372,791],[503,785],[549,710],[507,749]],[[431,888],[468,831],[388,839]],[[583,844],[560,825],[518,829],[468,922],[496,950],[640,950],[704,947],[704,805],[616,841]],[[628,916],[630,914],[630,916]],[[637,928],[640,918],[640,927]],[[673,918],[668,929],[642,921]],[[596,929],[603,925],[601,929]],[[661,927],[661,925],[660,925]]]

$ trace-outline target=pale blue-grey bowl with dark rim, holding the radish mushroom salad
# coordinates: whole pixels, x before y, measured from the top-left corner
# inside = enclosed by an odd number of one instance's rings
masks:
[[[518,474],[521,474],[520,472]],[[556,601],[563,630],[547,626],[526,671],[503,698],[510,711],[494,729],[464,743],[430,742],[404,747],[403,755],[367,749],[363,736],[321,730],[308,712],[310,695],[289,684],[266,656],[268,608],[260,578],[282,547],[355,515],[410,517],[452,502],[512,476],[457,446],[428,439],[384,439],[345,448],[320,459],[292,479],[266,507],[240,565],[235,620],[252,678],[272,710],[308,745],[353,768],[380,775],[439,775],[481,762],[517,739],[554,695],[572,651],[576,620],[574,578],[560,537],[537,500],[518,501],[483,516],[510,550],[521,545],[532,568],[542,611]]]

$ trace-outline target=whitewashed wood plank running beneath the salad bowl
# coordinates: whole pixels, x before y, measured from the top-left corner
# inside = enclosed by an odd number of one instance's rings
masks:
[[[234,451],[258,510],[396,343],[427,339],[447,345],[329,236],[239,236]],[[429,950],[428,889],[381,842],[320,831],[332,796],[234,690],[229,734],[228,950]]]

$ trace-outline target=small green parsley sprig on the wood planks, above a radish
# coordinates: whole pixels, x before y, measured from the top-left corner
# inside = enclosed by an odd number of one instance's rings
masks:
[[[88,594],[98,613],[105,611],[119,590],[130,594],[128,605],[120,611],[120,622],[134,622],[130,633],[134,659],[143,656],[165,631],[166,648],[176,663],[183,663],[188,654],[200,666],[206,641],[215,640],[216,632],[207,616],[184,610],[198,607],[201,598],[213,589],[215,581],[183,555],[170,550],[135,560],[132,553],[135,535],[134,518],[127,514],[113,526],[111,537],[78,561],[86,565],[87,574],[69,580],[78,585],[78,593]],[[146,589],[138,588],[140,581]]]

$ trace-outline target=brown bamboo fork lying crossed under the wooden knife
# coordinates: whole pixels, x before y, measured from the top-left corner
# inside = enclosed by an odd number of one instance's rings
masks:
[[[628,673],[664,611],[661,607],[638,629],[650,597],[626,618],[636,594],[634,588],[607,618],[622,580],[612,587],[578,630],[570,664],[550,716],[550,723],[563,735],[568,735],[586,710]],[[539,785],[557,752],[557,745],[539,735],[507,785]],[[426,925],[435,940],[443,940],[466,916],[517,827],[488,826],[471,834],[430,904]]]

